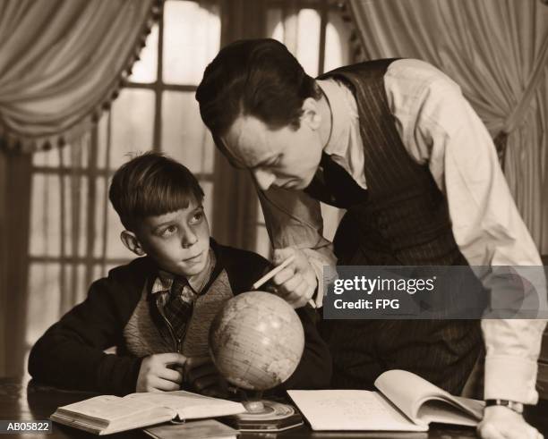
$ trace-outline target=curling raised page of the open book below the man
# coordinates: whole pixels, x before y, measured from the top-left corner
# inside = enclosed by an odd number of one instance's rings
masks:
[[[444,422],[475,426],[484,403],[453,396],[437,385],[405,370],[389,370],[375,380],[375,387],[416,424]]]

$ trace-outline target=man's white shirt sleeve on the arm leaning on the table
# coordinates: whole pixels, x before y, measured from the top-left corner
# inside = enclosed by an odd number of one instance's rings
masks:
[[[441,72],[417,93],[413,105],[398,117],[402,139],[418,162],[429,165],[434,181],[446,194],[455,241],[463,256],[471,266],[537,266],[542,275],[535,276],[535,288],[525,294],[537,294],[533,301],[540,300],[540,308],[545,309],[542,262],[484,123],[457,84]],[[492,286],[492,295],[497,294],[489,274],[482,282]],[[527,404],[538,400],[536,361],[545,325],[541,318],[482,320],[485,399]]]

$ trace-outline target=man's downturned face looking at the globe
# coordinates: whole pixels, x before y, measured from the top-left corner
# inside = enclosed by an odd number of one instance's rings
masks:
[[[221,141],[232,161],[253,173],[261,190],[302,190],[312,182],[321,160],[322,142],[311,117],[304,114],[297,130],[270,130],[254,116],[239,116]]]

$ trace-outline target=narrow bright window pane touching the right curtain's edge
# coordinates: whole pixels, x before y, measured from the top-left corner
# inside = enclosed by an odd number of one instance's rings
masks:
[[[330,12],[325,30],[324,72],[350,63],[349,41],[350,27],[343,21],[339,13]]]

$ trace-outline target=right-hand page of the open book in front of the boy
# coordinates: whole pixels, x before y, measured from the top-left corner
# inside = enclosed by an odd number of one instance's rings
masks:
[[[173,409],[181,420],[216,418],[244,413],[240,402],[211,398],[198,393],[176,391],[162,393],[132,393],[124,400],[143,401],[155,406]]]

